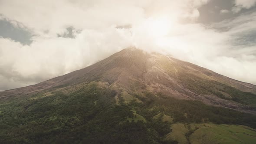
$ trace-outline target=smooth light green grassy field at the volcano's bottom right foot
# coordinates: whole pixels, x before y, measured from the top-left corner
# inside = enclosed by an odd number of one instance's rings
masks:
[[[167,140],[179,144],[255,144],[256,130],[228,124],[172,124]]]

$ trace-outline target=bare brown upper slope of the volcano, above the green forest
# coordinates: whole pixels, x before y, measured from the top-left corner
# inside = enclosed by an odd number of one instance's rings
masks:
[[[149,91],[249,112],[254,112],[256,106],[256,85],[230,79],[171,56],[136,48],[124,49],[84,69],[36,85],[1,92],[0,98],[31,95],[92,81],[103,82],[118,93]]]

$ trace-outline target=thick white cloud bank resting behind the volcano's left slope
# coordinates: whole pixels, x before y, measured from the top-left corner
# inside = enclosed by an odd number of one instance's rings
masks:
[[[42,82],[91,65],[130,46],[124,33],[115,28],[84,29],[74,39],[37,37],[30,46],[0,38],[0,89]]]

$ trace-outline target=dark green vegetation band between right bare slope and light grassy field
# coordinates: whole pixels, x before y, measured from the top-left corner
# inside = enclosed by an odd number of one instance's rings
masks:
[[[136,103],[137,107],[141,107],[141,111],[137,110],[137,113],[142,116],[151,114],[154,117],[161,112],[174,118],[174,123],[211,121],[215,124],[241,124],[256,128],[256,115],[205,105],[200,101],[181,100],[165,96],[159,98],[151,93],[146,96],[137,96],[144,103]],[[147,117],[149,116],[144,116],[144,118]]]

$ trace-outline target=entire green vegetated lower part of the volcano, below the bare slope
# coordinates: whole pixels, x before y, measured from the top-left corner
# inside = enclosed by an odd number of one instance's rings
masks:
[[[112,88],[99,87],[96,82],[75,87],[68,94],[60,88],[1,101],[1,143],[193,143],[213,126],[215,133],[207,133],[205,141],[217,136],[224,143],[218,131],[233,131],[226,136],[237,134],[237,140],[246,138],[244,143],[255,141],[255,115],[150,92],[123,92],[116,104],[117,92]],[[211,122],[206,124],[208,129],[200,124],[207,121]]]

